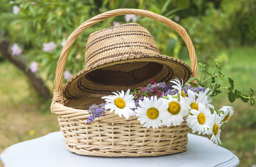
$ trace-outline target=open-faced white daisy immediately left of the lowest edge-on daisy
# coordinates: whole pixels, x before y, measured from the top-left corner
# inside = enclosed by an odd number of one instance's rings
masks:
[[[213,126],[212,116],[209,109],[205,105],[199,103],[199,110],[191,110],[192,115],[187,117],[187,125],[192,129],[192,132],[198,131],[198,134],[201,133],[211,134],[210,128]]]

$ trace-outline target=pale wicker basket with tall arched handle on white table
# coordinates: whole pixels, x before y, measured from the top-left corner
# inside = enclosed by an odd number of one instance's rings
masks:
[[[54,112],[63,132],[67,149],[81,155],[94,156],[158,156],[186,151],[189,127],[186,121],[179,126],[160,126],[158,129],[142,127],[138,117],[124,117],[106,111],[105,114],[90,124],[85,110],[93,104],[100,104],[100,97],[64,100],[62,92],[62,74],[73,42],[86,28],[104,19],[124,14],[156,19],[175,30],[185,41],[189,49],[192,77],[197,77],[197,60],[194,46],[186,31],[170,19],[159,14],[141,9],[116,9],[99,14],[79,26],[67,39],[62,48],[56,68],[56,80],[51,111]]]

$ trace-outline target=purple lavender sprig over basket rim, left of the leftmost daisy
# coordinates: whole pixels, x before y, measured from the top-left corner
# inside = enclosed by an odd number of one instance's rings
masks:
[[[97,117],[102,116],[105,114],[105,104],[98,105],[92,105],[89,107],[88,112],[90,113],[90,116],[88,116],[87,122],[90,123],[94,121]]]

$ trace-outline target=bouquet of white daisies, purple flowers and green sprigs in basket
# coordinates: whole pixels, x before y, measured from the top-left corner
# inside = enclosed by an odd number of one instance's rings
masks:
[[[147,85],[138,87],[133,92],[130,90],[117,91],[113,92],[113,95],[102,97],[106,103],[91,106],[88,110],[90,116],[87,121],[89,123],[96,117],[102,116],[105,110],[114,111],[115,114],[120,117],[124,116],[126,119],[137,116],[143,127],[152,127],[153,129],[162,125],[178,126],[186,121],[193,133],[211,135],[211,141],[214,144],[221,144],[220,127],[234,114],[234,109],[231,106],[216,109],[211,105],[212,96],[220,94],[220,89],[227,88],[231,102],[239,98],[244,102],[250,100],[253,105],[255,97],[253,97],[252,89],[250,96],[235,90],[234,81],[230,78],[230,87],[220,87],[219,84],[215,84],[217,76],[220,79],[224,77],[219,64],[218,60],[215,60],[215,70],[209,73],[204,69],[205,65],[199,63],[199,70],[210,75],[207,80],[211,79],[211,84],[207,88],[204,87],[206,80],[200,81],[197,78],[191,78],[190,85],[183,85],[177,78],[170,81],[169,84],[157,83],[151,79]],[[215,73],[217,69],[219,72]],[[195,80],[196,84],[191,82],[192,80]]]

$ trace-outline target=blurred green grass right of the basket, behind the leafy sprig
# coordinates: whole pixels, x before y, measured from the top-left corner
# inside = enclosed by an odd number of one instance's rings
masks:
[[[224,80],[221,86],[229,86],[228,77],[234,80],[235,89],[249,94],[250,87],[256,92],[256,50],[253,47],[230,48],[215,52],[214,56],[223,60]],[[223,58],[224,57],[224,58]],[[213,62],[214,60],[212,60]],[[212,66],[213,68],[213,66]],[[221,126],[221,142],[240,159],[239,166],[256,165],[256,108],[236,100],[228,101],[228,91],[214,97],[212,104],[220,109],[228,105],[234,107],[234,115]],[[255,94],[256,95],[256,94]]]

